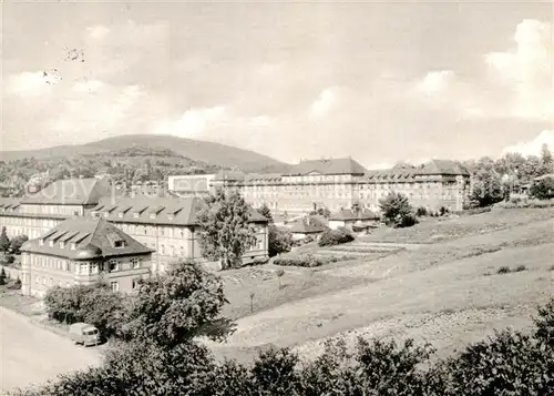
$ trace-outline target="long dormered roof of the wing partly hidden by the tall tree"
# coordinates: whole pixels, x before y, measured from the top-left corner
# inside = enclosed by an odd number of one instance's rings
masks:
[[[198,212],[206,205],[197,196],[191,197],[122,197],[115,202],[104,197],[92,209],[93,213],[114,222],[140,224],[195,225]],[[256,210],[250,211],[253,222],[267,222]]]

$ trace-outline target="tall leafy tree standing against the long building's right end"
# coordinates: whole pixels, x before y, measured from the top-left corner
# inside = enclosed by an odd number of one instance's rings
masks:
[[[235,190],[219,190],[206,203],[197,215],[204,257],[220,260],[223,268],[239,266],[243,254],[256,244],[250,206]]]

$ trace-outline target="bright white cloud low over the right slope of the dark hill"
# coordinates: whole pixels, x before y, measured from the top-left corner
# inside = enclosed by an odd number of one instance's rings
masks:
[[[226,119],[224,106],[189,109],[176,120],[163,121],[155,126],[155,133],[181,138],[202,138],[209,129],[217,128]]]

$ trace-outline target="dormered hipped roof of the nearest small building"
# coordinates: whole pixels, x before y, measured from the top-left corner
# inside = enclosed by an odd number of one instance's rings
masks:
[[[72,244],[75,244],[74,248]],[[71,260],[107,258],[153,252],[104,219],[95,217],[68,219],[42,236],[25,242],[21,250]]]

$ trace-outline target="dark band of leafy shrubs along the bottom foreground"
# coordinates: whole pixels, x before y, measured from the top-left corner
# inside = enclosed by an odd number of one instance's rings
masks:
[[[538,309],[530,334],[496,332],[460,354],[431,363],[413,341],[359,338],[353,352],[328,342],[314,362],[269,348],[252,365],[217,363],[187,341],[132,343],[110,352],[100,368],[64,375],[21,396],[551,396],[554,389],[554,299]]]

